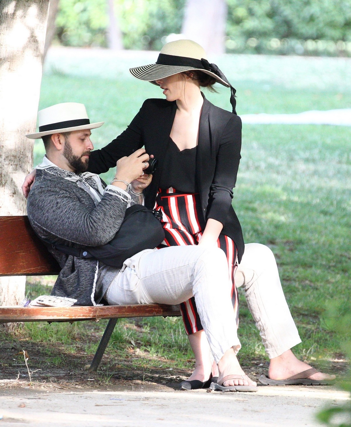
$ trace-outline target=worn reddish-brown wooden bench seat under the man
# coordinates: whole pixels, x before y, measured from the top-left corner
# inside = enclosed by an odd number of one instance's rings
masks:
[[[178,305],[136,304],[99,307],[0,307],[0,323],[62,322],[127,317],[180,316]]]

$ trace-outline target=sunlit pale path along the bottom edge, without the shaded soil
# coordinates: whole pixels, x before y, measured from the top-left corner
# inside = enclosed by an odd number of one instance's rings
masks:
[[[317,427],[325,404],[345,403],[335,387],[261,386],[256,393],[174,391],[139,380],[118,386],[62,389],[1,387],[0,426]],[[347,424],[349,425],[349,424]]]

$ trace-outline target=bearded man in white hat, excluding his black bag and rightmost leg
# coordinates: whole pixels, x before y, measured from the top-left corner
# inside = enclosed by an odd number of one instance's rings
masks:
[[[90,129],[102,124],[89,122],[83,104],[57,104],[39,111],[39,132],[27,135],[42,137],[46,152],[29,193],[28,218],[36,234],[50,243],[78,248],[108,243],[126,209],[140,201],[151,181],[142,176],[149,160],[144,149],[118,160],[110,185],[85,172],[93,149]],[[147,249],[126,259],[122,269],[49,250],[62,268],[52,294],[76,298],[78,305],[95,305],[102,297],[109,304],[179,304],[194,295],[218,365],[215,387],[257,390],[236,358],[240,342],[221,249]]]

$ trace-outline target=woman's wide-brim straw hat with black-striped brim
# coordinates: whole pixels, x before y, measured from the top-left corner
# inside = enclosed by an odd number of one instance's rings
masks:
[[[156,85],[155,80],[184,71],[198,70],[214,77],[221,85],[229,87],[229,82],[211,70],[212,65],[214,64],[209,64],[207,61],[206,52],[200,44],[192,40],[181,39],[166,43],[162,47],[155,64],[130,68],[129,71],[137,79]]]

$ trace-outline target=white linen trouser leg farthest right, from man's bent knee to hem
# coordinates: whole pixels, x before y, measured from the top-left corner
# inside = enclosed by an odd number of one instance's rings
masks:
[[[260,243],[245,245],[236,269],[235,284],[244,287],[248,308],[270,359],[301,342],[286,304],[274,254],[267,246]]]

